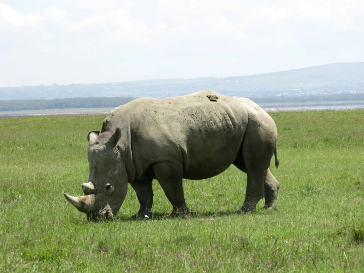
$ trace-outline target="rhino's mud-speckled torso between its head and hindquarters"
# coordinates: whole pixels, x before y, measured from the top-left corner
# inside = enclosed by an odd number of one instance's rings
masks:
[[[185,178],[204,179],[232,164],[249,114],[260,109],[248,99],[208,90],[169,99],[141,98],[115,108],[107,118],[108,130],[119,127],[129,136],[125,145],[132,150],[136,179],[160,161],[182,164]]]

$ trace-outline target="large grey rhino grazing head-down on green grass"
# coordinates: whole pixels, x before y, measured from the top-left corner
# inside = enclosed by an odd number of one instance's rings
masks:
[[[113,109],[101,132],[92,131],[87,138],[90,174],[82,184],[84,195],[64,195],[89,220],[115,216],[128,183],[140,203],[132,217],[153,217],[153,179],[171,203],[172,216],[189,214],[182,179],[213,177],[232,164],[247,173],[238,212],[254,212],[263,198],[265,208],[278,208],[279,183],[269,171],[273,154],[276,168],[279,165],[277,128],[249,99],[210,90],[168,99],[139,98]]]

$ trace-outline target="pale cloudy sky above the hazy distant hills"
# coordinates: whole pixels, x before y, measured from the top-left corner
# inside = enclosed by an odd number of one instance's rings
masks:
[[[364,61],[364,0],[0,0],[0,87]]]

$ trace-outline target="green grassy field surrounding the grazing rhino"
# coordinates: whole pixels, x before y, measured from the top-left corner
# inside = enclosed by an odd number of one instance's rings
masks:
[[[82,194],[86,136],[105,116],[0,119],[0,272],[364,272],[364,110],[271,116],[278,211],[235,214],[246,176],[231,167],[184,182],[191,217],[130,221],[130,188],[97,223],[63,193]],[[153,187],[154,212],[168,214]]]

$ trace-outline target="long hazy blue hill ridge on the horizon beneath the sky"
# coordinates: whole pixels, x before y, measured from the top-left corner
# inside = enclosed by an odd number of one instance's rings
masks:
[[[173,97],[211,89],[237,97],[297,97],[364,93],[364,62],[226,78],[159,79],[102,84],[0,88],[0,100],[80,97]]]

